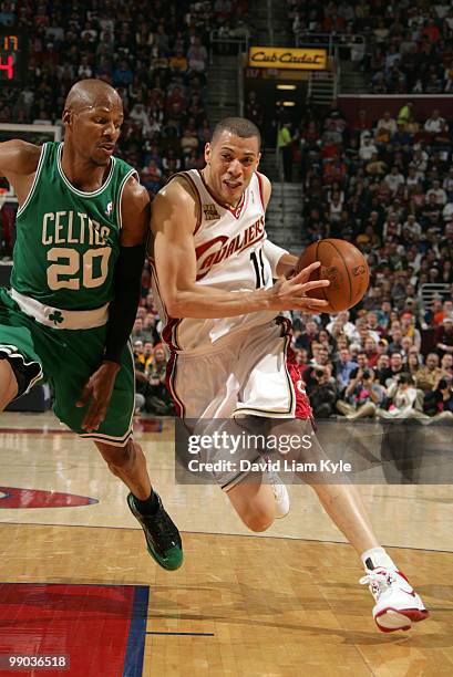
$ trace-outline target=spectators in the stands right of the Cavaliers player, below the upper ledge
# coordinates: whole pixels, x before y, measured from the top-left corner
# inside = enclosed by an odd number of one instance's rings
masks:
[[[358,111],[348,124],[332,102],[323,115],[307,110],[297,138],[305,237],[350,240],[371,270],[353,323],[340,314],[299,325],[295,348],[315,408],[348,418],[453,416],[447,122],[437,110],[418,122],[408,102],[373,122]],[[432,305],[423,298],[429,283],[439,284]]]

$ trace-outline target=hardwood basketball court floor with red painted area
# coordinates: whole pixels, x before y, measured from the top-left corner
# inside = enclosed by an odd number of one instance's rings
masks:
[[[69,669],[27,674],[71,677],[453,674],[450,486],[362,488],[432,614],[384,635],[354,552],[309,488],[291,487],[290,514],[250,534],[216,487],[175,486],[172,421],[136,429],[183,532],[177,572],[147,555],[126,490],[91,442],[50,414],[2,416],[0,655],[56,647]]]

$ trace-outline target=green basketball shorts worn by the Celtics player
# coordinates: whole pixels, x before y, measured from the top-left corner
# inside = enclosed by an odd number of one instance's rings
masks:
[[[50,315],[55,317],[55,324],[60,322],[58,313]],[[105,420],[97,430],[86,433],[81,427],[90,403],[83,408],[75,406],[102,362],[105,336],[106,324],[83,330],[41,324],[22,312],[6,289],[0,289],[0,357],[21,362],[21,372],[29,378],[27,389],[42,377],[52,384],[53,410],[71,430],[87,439],[123,447],[132,435],[135,405],[134,362],[128,344],[123,351]]]

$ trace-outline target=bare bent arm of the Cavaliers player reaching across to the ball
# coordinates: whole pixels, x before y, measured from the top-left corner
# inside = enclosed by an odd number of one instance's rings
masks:
[[[176,180],[165,186],[153,204],[154,259],[161,293],[172,317],[233,317],[292,309],[319,312],[327,305],[326,301],[305,295],[310,289],[329,284],[328,280],[308,282],[319,263],[290,280],[278,280],[271,289],[231,293],[196,284],[196,200]]]

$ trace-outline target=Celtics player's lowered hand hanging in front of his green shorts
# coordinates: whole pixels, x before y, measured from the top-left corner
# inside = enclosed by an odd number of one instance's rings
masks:
[[[116,362],[103,362],[99,369],[90,376],[75,403],[75,406],[81,408],[85,407],[91,400],[89,410],[82,421],[82,428],[86,433],[97,430],[104,420],[119,371],[120,365]]]

